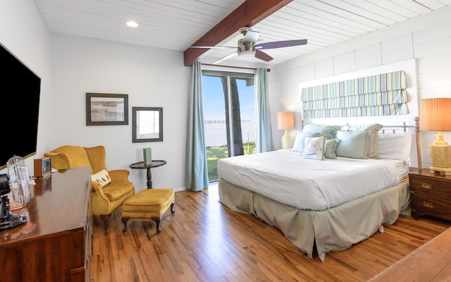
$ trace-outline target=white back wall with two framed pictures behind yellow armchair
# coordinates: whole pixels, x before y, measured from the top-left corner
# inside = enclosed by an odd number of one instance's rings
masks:
[[[136,190],[146,188],[142,148],[168,164],[152,168],[155,188],[185,189],[187,97],[191,68],[183,54],[66,35],[52,35],[52,147],[106,148],[107,168],[126,168]],[[128,94],[128,125],[86,125],[87,92]],[[132,143],[132,107],[163,107],[163,142]]]

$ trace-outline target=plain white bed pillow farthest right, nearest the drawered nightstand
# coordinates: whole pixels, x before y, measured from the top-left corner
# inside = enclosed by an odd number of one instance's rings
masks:
[[[385,133],[378,137],[379,159],[408,161],[412,146],[412,131],[407,133]]]

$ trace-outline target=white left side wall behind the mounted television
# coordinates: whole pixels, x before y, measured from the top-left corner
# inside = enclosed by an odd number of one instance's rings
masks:
[[[33,171],[33,159],[42,157],[44,152],[51,149],[53,121],[51,116],[50,36],[34,1],[0,1],[0,43],[41,78],[37,154],[35,157],[25,159],[28,170]],[[1,93],[1,95],[9,94],[11,93]],[[24,97],[24,99],[26,98]],[[11,106],[18,109],[18,114],[26,117],[27,113],[20,112],[20,105]],[[8,128],[7,118],[14,117],[3,116],[2,118],[5,130],[2,136],[8,138],[8,130],[14,130],[14,128]],[[6,173],[6,169],[0,173]]]

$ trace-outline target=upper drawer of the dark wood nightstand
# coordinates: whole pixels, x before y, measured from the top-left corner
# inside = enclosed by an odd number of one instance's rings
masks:
[[[409,189],[415,194],[451,200],[451,181],[423,176],[410,176]]]

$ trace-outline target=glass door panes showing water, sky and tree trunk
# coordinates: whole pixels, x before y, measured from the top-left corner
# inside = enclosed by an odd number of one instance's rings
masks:
[[[218,180],[218,159],[254,154],[254,75],[204,71],[204,121],[209,181]]]

